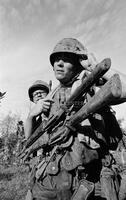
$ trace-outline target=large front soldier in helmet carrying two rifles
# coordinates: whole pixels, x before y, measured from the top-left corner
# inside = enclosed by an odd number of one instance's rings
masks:
[[[49,117],[64,105],[81,76],[86,76],[88,69],[81,62],[87,59],[86,48],[76,39],[65,38],[55,46],[50,62],[60,84],[53,93],[54,102],[50,106]],[[83,102],[88,101],[94,93],[95,90],[91,88],[83,96]],[[71,113],[80,106],[78,102]],[[107,112],[109,109],[85,120],[78,127],[73,141],[70,144],[68,142],[66,149],[57,151],[54,157],[55,149],[45,153],[41,166],[33,173],[31,199],[110,199],[110,196],[111,199],[118,199],[118,181],[112,170],[113,158],[105,138],[104,115]],[[120,136],[117,140],[120,140]]]

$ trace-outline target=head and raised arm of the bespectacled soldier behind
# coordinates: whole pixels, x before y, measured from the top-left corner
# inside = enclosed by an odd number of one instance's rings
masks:
[[[51,100],[46,99],[48,93],[49,85],[41,80],[35,81],[28,89],[30,101],[34,104],[29,110],[25,123],[26,139],[31,136],[42,120],[46,118],[46,113],[48,112],[51,102]]]

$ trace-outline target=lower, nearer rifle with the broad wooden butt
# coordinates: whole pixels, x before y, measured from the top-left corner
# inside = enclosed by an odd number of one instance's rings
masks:
[[[113,105],[115,101],[118,101],[122,93],[121,81],[118,74],[113,75],[109,81],[106,82],[98,92],[91,97],[91,99],[82,106],[82,108],[77,111],[73,116],[70,117],[68,121],[57,131],[54,130],[55,134],[46,143],[36,144],[36,146],[31,146],[28,149],[25,159],[38,150],[39,148],[54,147],[55,145],[60,145],[60,148],[66,148],[72,142],[73,134],[76,131],[76,126],[87,119],[92,114],[98,112],[100,109],[108,105]],[[52,134],[53,135],[53,134]],[[71,138],[68,141],[68,138]]]

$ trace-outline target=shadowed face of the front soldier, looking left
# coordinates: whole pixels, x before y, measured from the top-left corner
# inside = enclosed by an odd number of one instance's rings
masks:
[[[71,54],[59,54],[54,61],[53,70],[55,77],[65,84],[76,75],[75,61]]]

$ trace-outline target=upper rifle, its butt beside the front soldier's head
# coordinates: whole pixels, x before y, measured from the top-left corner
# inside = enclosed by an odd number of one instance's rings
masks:
[[[111,59],[106,58],[102,62],[98,63],[95,69],[84,79],[82,79],[81,85],[72,93],[67,102],[59,109],[59,111],[53,115],[49,120],[44,129],[40,125],[33,135],[26,141],[25,146],[18,156],[25,153],[26,149],[30,147],[38,138],[41,137],[46,131],[52,130],[68,112],[69,108],[77,101],[84,93],[86,93],[92,85],[94,85],[98,79],[100,79],[110,68]]]

